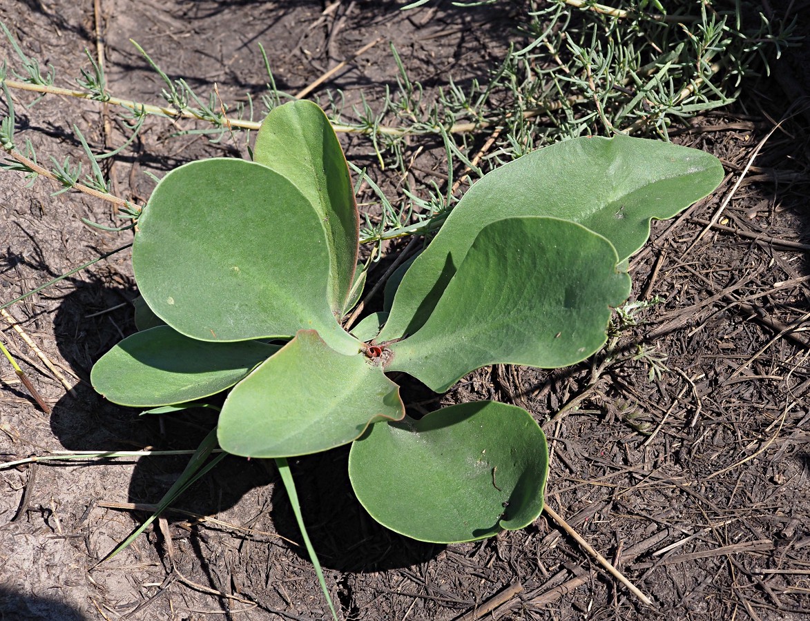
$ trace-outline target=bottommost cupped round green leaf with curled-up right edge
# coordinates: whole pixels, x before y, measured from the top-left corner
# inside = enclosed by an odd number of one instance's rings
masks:
[[[543,510],[547,476],[543,431],[526,410],[496,402],[377,423],[349,454],[349,477],[366,511],[428,542],[522,529]]]

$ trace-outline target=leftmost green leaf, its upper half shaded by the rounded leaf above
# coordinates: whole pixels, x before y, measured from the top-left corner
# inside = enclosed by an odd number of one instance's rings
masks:
[[[278,350],[256,341],[198,341],[160,325],[101,356],[90,381],[122,406],[164,406],[221,393]]]

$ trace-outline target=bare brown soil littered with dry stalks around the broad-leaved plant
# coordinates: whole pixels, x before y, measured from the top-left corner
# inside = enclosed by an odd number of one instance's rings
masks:
[[[84,49],[95,49],[98,25],[110,91],[151,102],[161,85],[130,37],[173,78],[195,87],[216,82],[232,101],[264,90],[257,42],[267,50],[277,86],[294,92],[377,37],[394,41],[412,77],[426,86],[445,84],[449,75],[467,83],[497,64],[505,33],[516,36],[509,3],[400,13],[393,2],[339,2],[326,15],[320,2],[99,4],[98,24],[92,2],[4,0],[0,19],[62,80],[87,66]],[[806,9],[801,16],[810,22]],[[11,53],[3,49],[4,57]],[[608,354],[551,373],[484,369],[436,403],[424,404],[429,395],[418,386],[404,394],[406,402],[428,408],[495,398],[531,411],[551,440],[548,504],[655,605],[644,606],[607,576],[546,513],[525,530],[484,542],[443,547],[392,534],[354,500],[347,452],[336,450],[293,467],[344,619],[466,621],[488,603],[497,604],[494,619],[804,619],[810,613],[807,119],[787,119],[752,161],[787,110],[785,85],[798,89],[791,97],[808,92],[801,74],[806,56],[796,58],[780,67],[778,81],[747,85],[733,111],[701,117],[676,136],[718,155],[728,177],[706,201],[657,223],[652,241],[633,259],[635,299],[663,301],[638,313],[638,325],[621,334],[604,372],[593,371]],[[379,96],[394,79],[382,43],[325,87],[342,88],[356,102],[361,90]],[[314,95],[324,93],[322,87]],[[18,139],[30,138],[42,161],[79,152],[74,123],[94,147],[122,142],[122,127],[113,117],[105,128],[97,104],[47,97],[26,109],[33,96],[15,92],[15,100]],[[162,174],[201,156],[236,155],[229,140],[173,136],[202,126],[148,121],[133,150],[113,165],[115,193],[143,202],[152,186],[144,171]],[[344,147],[356,164],[374,166],[368,138],[345,138]],[[409,148],[418,155],[417,177],[441,171],[436,144],[415,138]],[[395,179],[374,174],[395,191]],[[128,232],[100,232],[80,221],[119,223],[109,205],[72,193],[52,197],[53,189],[47,181],[27,188],[19,175],[0,176],[2,300],[130,240]],[[374,201],[368,189],[363,193],[361,202]],[[3,341],[53,406],[52,415],[42,414],[2,367],[5,460],[64,449],[196,446],[210,418],[138,418],[88,385],[96,359],[134,330],[136,295],[128,256],[120,253],[9,309],[75,388],[68,393],[0,321]],[[666,368],[650,381],[655,364]],[[326,619],[305,554],[279,538],[299,537],[278,477],[256,462],[229,458],[177,504],[219,522],[169,513],[96,567],[145,515],[103,504],[155,503],[184,459],[0,471],[2,619]]]

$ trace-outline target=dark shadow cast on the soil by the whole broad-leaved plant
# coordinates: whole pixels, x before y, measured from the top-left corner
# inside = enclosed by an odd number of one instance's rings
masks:
[[[107,402],[89,385],[96,362],[120,338],[135,331],[134,309],[129,302],[109,313],[92,315],[96,309],[113,308],[121,300],[133,300],[131,287],[105,287],[100,281],[76,282],[65,296],[54,319],[57,345],[62,357],[83,378],[75,396],[67,393],[54,407],[51,429],[67,450],[131,451],[196,449],[215,424],[210,410],[185,410],[174,415],[142,415],[143,409],[122,408]],[[296,458],[292,468],[305,524],[313,546],[326,568],[343,572],[372,572],[403,568],[433,558],[443,547],[416,542],[387,530],[373,521],[352,492],[347,475],[348,447]],[[158,504],[190,459],[189,455],[133,457],[137,460],[130,479],[128,501]],[[121,461],[117,461],[121,463]],[[282,537],[301,541],[288,496],[271,461],[228,457],[195,483],[172,506],[203,516],[237,508],[250,491],[272,483],[271,527]],[[395,492],[394,492],[395,493]],[[100,498],[99,500],[114,500]],[[244,503],[243,503],[244,504]],[[254,511],[253,514],[249,514]],[[238,507],[241,524],[256,517],[256,510]],[[259,514],[262,510],[258,511]],[[138,513],[139,520],[148,513]],[[170,523],[189,517],[168,512]],[[261,526],[253,526],[262,530]],[[192,537],[194,538],[194,536]],[[207,556],[192,542],[203,570]],[[291,550],[309,563],[304,547]],[[103,554],[109,550],[102,551]]]

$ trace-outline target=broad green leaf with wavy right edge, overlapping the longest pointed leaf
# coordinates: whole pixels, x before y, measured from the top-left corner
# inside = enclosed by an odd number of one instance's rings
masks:
[[[422,328],[390,344],[387,370],[444,392],[488,364],[573,364],[603,346],[610,307],[629,293],[604,237],[556,218],[498,220],[475,238]]]

